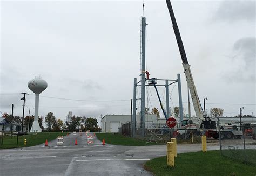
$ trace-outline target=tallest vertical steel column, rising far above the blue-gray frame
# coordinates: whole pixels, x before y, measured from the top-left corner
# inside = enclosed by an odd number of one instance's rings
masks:
[[[146,60],[146,18],[142,17],[142,73],[140,73],[141,78],[141,109],[140,109],[140,124],[142,130],[142,137],[144,137],[145,129],[145,60]]]

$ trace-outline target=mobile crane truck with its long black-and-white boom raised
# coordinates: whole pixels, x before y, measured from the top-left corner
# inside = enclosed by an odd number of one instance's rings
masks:
[[[207,137],[213,137],[213,138],[217,139],[219,137],[219,135],[218,135],[218,131],[217,131],[216,121],[212,121],[211,119],[206,119],[206,115],[204,114],[203,108],[199,101],[196,86],[194,85],[194,80],[193,80],[192,73],[190,70],[190,65],[188,64],[188,61],[187,61],[186,52],[185,52],[183,42],[182,42],[182,39],[180,36],[176,18],[174,16],[174,12],[172,9],[171,1],[166,0],[166,4],[167,4],[167,7],[168,7],[168,10],[170,13],[170,17],[172,20],[172,27],[173,27],[173,31],[174,31],[174,34],[175,34],[175,37],[177,40],[177,44],[179,47],[179,52],[180,52],[180,56],[181,56],[181,60],[182,60],[183,68],[184,68],[184,73],[186,76],[187,85],[188,85],[188,88],[190,89],[190,94],[191,94],[191,98],[192,98],[192,102],[193,102],[193,106],[194,106],[194,111],[196,112],[196,116],[198,119],[198,124],[193,123],[193,121],[191,121],[191,120],[183,120],[183,122],[181,122],[181,127],[183,126],[188,129],[195,129],[195,128],[198,128],[200,125],[200,128],[206,129]],[[227,139],[238,138],[241,136],[241,132],[237,131],[237,130],[223,131],[223,134]],[[221,136],[221,138],[224,138],[224,136]]]

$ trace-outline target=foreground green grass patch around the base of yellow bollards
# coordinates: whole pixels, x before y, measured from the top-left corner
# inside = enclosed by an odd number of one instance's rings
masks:
[[[175,159],[175,167],[167,166],[166,157],[147,161],[145,169],[154,175],[256,175],[254,165],[241,163],[220,156],[219,151],[181,153]]]

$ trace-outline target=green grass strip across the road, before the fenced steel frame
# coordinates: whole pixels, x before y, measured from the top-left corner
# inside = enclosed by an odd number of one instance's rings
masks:
[[[124,137],[122,135],[114,135],[113,133],[96,133],[99,140],[105,139],[105,143],[113,145],[127,145],[127,146],[144,146],[144,145],[165,145],[165,143],[146,143],[147,140],[134,139],[131,137]]]

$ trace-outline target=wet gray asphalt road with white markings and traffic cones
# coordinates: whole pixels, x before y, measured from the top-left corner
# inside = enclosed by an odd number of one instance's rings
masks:
[[[77,133],[65,136],[63,146],[52,140],[48,146],[0,150],[0,175],[151,175],[144,170],[144,163],[166,155],[165,145],[103,146],[96,137],[93,142],[87,145],[86,134]],[[219,145],[211,144],[207,149],[218,150]],[[200,150],[201,144],[177,146],[178,153]]]

